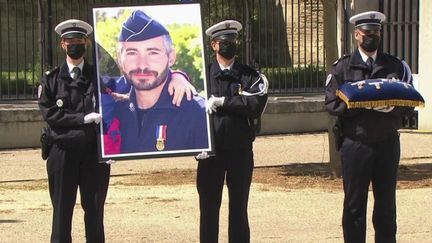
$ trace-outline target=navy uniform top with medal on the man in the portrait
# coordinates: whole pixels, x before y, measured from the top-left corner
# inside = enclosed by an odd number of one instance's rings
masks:
[[[173,105],[168,93],[171,74],[168,77],[159,99],[149,109],[138,108],[135,90],[130,101],[117,102],[114,116],[120,120],[122,153],[208,148],[204,99],[194,96],[188,101],[184,97],[180,107]],[[159,129],[165,129],[164,137]],[[158,139],[164,140],[162,146],[157,146]]]

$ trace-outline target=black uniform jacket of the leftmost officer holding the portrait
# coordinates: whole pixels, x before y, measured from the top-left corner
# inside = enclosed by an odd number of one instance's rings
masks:
[[[41,87],[39,108],[52,130],[54,143],[65,147],[95,143],[95,123],[84,124],[84,116],[96,107],[94,67],[85,62],[81,76],[73,80],[65,61],[45,74]]]

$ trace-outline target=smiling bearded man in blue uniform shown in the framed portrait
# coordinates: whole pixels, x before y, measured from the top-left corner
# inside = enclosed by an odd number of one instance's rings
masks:
[[[123,24],[118,64],[133,86],[127,102],[117,102],[121,152],[156,152],[208,147],[204,98],[193,96],[173,104],[170,67],[176,53],[168,30],[140,10]]]

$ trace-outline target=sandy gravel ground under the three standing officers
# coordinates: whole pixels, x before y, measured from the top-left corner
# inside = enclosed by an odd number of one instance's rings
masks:
[[[341,179],[325,133],[258,137],[249,202],[252,242],[343,242]],[[401,134],[398,242],[432,242],[432,134]],[[51,204],[37,149],[0,151],[0,242],[48,242]],[[117,162],[105,210],[107,242],[198,242],[191,157]],[[226,190],[225,190],[226,192]],[[373,242],[369,197],[368,241]],[[74,242],[85,242],[77,200]],[[227,194],[220,242],[227,242]]]

